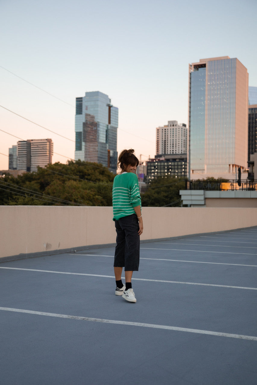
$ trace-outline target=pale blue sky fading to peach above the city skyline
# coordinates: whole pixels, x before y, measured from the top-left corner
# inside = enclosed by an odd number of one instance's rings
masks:
[[[51,138],[61,154],[53,162],[66,163],[75,148],[71,105],[101,91],[119,109],[118,152],[154,157],[156,127],[188,125],[189,63],[237,57],[257,87],[256,11],[255,0],[0,0],[0,105],[71,141],[2,107],[0,129]],[[18,140],[0,131],[0,170]]]

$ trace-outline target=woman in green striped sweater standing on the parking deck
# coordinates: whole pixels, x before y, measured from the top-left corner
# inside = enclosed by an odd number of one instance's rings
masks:
[[[114,273],[116,280],[115,295],[122,295],[128,302],[137,302],[132,289],[133,271],[139,268],[139,236],[143,232],[141,198],[135,171],[139,160],[134,150],[123,150],[118,158],[120,174],[113,181],[112,204],[113,221],[116,228],[116,248]],[[122,283],[122,268],[125,271],[125,286]]]

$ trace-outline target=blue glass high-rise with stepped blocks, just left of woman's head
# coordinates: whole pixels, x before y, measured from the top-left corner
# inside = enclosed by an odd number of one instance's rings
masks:
[[[97,162],[116,173],[118,108],[102,92],[76,98],[75,159]]]

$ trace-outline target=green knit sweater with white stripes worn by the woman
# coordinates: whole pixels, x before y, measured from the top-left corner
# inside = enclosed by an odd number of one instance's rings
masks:
[[[112,188],[113,221],[135,214],[134,207],[141,207],[139,184],[133,172],[115,176]]]

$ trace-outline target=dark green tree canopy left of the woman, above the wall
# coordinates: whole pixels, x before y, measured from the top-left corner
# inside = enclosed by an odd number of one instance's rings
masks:
[[[0,205],[112,206],[115,175],[98,163],[68,161],[0,178]]]

